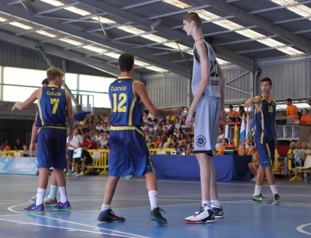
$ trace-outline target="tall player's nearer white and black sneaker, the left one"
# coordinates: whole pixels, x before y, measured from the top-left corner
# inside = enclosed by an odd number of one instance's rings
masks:
[[[212,223],[215,222],[214,211],[207,206],[207,204],[201,204],[199,212],[196,212],[193,216],[187,217],[184,220],[186,223]]]

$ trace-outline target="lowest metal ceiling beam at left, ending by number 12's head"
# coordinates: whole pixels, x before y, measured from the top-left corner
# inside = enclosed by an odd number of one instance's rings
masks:
[[[27,40],[27,39],[17,37],[11,34],[3,33],[3,32],[0,32],[0,38],[10,43],[15,43],[23,47],[28,47],[28,48],[35,49],[35,50],[38,50],[37,47],[40,46],[38,43],[34,41]],[[91,68],[97,68],[103,72],[112,74],[114,76],[120,75],[120,70],[117,67],[106,65],[105,62],[103,61],[98,62],[97,60],[86,59],[85,57],[81,55],[70,53],[69,51],[62,51],[61,49],[56,48],[56,47],[51,47],[47,45],[41,45],[41,47],[44,49],[44,51],[46,51],[49,54],[62,57],[62,58],[65,58],[65,59],[68,59],[70,61],[74,61],[80,64],[84,64]],[[139,75],[137,73],[134,72],[134,74],[135,74],[134,75],[135,78],[139,78]]]

